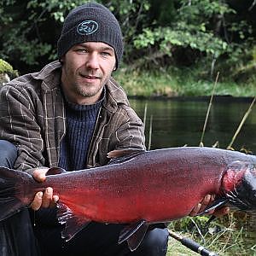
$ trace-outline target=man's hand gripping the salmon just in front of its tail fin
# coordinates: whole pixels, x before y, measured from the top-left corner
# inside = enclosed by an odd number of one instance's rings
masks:
[[[48,171],[48,168],[38,168],[33,172],[33,177],[38,182],[44,182],[46,179],[45,173]],[[38,211],[40,207],[48,208],[55,207],[55,203],[59,200],[58,195],[53,195],[52,188],[46,188],[45,191],[39,191],[34,200],[31,203],[31,207],[34,211]]]

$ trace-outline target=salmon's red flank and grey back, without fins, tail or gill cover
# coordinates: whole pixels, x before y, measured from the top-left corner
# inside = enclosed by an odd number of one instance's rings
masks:
[[[166,148],[122,163],[47,177],[74,215],[103,223],[165,222],[220,194],[229,166],[255,157],[216,148]]]

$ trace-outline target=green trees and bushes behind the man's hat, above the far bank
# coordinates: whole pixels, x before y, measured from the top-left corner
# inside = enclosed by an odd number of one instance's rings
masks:
[[[89,0],[3,0],[0,57],[21,73],[54,60],[64,17],[86,2]],[[123,60],[135,70],[170,64],[191,67],[205,61],[205,76],[218,69],[231,78],[249,79],[247,73],[254,72],[256,21],[250,0],[243,4],[239,0],[98,2],[119,20],[125,41]]]

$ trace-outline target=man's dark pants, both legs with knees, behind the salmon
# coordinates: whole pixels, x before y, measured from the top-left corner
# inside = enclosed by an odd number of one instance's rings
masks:
[[[0,140],[0,166],[12,168],[16,148]],[[32,220],[31,220],[32,218]],[[34,225],[35,224],[35,225]],[[55,222],[55,211],[23,210],[0,223],[1,256],[165,256],[168,232],[163,224],[148,229],[140,247],[132,252],[118,244],[124,224],[90,223],[70,241],[61,239],[63,226]],[[36,237],[36,238],[35,238]]]

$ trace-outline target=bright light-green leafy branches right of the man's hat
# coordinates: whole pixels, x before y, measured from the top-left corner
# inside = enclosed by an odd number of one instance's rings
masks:
[[[214,37],[214,31],[207,20],[215,15],[229,14],[233,10],[218,1],[180,1],[182,6],[177,9],[178,19],[171,26],[146,28],[138,35],[134,44],[137,48],[148,47],[149,44],[160,45],[160,49],[171,53],[174,46],[190,47],[201,52],[219,56],[227,49],[223,39]]]

